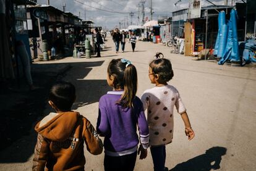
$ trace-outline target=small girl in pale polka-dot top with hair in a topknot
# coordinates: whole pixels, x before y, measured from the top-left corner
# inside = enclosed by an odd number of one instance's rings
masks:
[[[176,106],[177,112],[181,114],[188,139],[192,140],[195,136],[179,91],[174,86],[168,85],[168,81],[173,76],[171,62],[168,59],[158,57],[150,62],[148,77],[151,83],[156,86],[145,90],[141,98],[144,109],[147,109],[147,121],[150,127],[150,151],[155,171],[168,170],[167,167],[164,167],[166,161],[165,146],[173,140],[174,106]]]

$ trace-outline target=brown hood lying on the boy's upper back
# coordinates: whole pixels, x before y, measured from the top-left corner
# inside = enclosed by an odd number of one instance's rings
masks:
[[[49,140],[65,141],[74,131],[79,116],[80,114],[78,112],[63,112],[56,114],[53,119],[50,119],[43,125],[40,125],[40,122],[43,122],[44,119],[38,122],[35,131]]]

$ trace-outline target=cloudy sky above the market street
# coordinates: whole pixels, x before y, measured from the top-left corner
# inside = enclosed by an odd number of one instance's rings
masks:
[[[129,12],[134,12],[132,17],[133,24],[139,23],[138,10],[141,0],[49,0],[50,5],[58,9],[63,9],[63,4],[66,4],[66,11],[72,12],[80,18],[93,20],[95,25],[103,28],[112,29],[122,23],[122,27],[130,25]],[[145,1],[145,0],[144,0]],[[152,0],[153,20],[157,20],[163,16],[171,16],[171,12],[188,7],[189,0],[181,0],[174,6],[174,3],[179,0]],[[223,0],[210,0],[215,4],[223,5]],[[228,0],[231,3],[232,0]],[[236,0],[239,1],[239,0]],[[240,0],[241,1],[241,0]],[[38,0],[38,4],[47,4],[47,0]],[[202,0],[202,5],[210,5],[207,1]],[[145,1],[145,17],[150,19],[150,0]]]

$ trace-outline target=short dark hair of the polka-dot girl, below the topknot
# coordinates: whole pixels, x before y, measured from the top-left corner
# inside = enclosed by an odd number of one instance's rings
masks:
[[[171,62],[168,59],[155,59],[150,62],[150,68],[154,74],[158,74],[158,82],[161,84],[168,82],[174,76]]]

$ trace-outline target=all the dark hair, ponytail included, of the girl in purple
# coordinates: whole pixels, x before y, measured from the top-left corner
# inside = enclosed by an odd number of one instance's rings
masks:
[[[108,65],[108,77],[114,77],[114,88],[121,88],[124,93],[119,99],[123,107],[133,107],[132,101],[137,93],[137,70],[134,65],[121,62],[121,59],[113,59]]]

